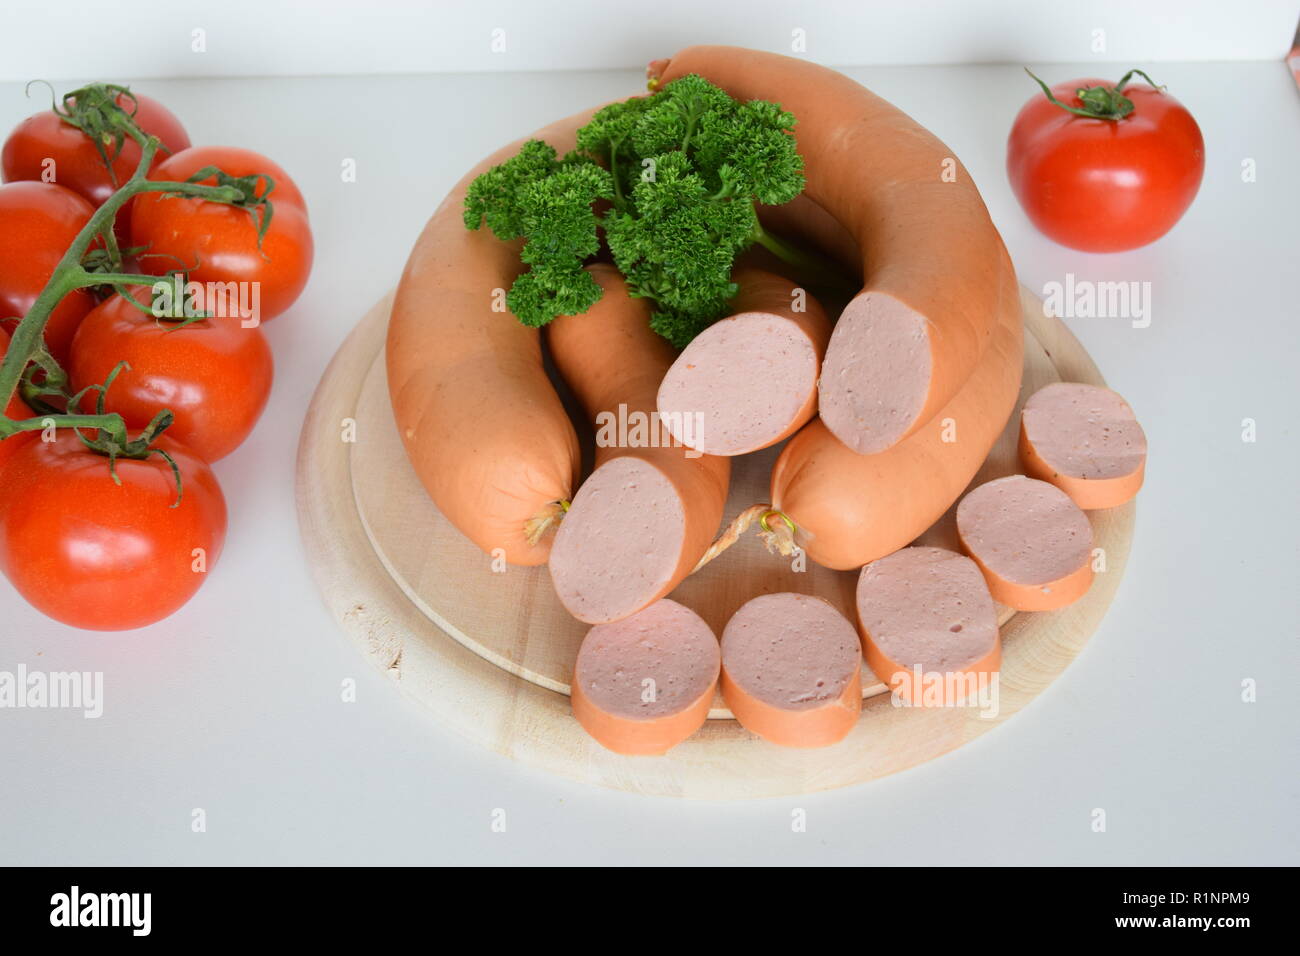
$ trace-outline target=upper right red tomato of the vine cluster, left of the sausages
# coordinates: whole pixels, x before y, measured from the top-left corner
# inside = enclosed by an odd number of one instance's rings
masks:
[[[139,196],[131,245],[148,246],[142,265],[150,274],[178,267],[195,282],[257,284],[259,319],[285,312],[303,291],[312,271],[312,230],[303,194],[283,169],[265,156],[233,147],[200,146],[172,156],[152,179],[188,179],[204,166],[230,176],[264,173],[276,181],[274,213],[257,247],[257,226],[247,209],[202,199],[147,194]],[[207,179],[214,183],[214,179]]]

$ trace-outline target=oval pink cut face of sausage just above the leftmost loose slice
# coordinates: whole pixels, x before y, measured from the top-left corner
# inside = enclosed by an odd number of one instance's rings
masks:
[[[681,559],[686,509],[677,488],[634,455],[592,472],[551,548],[555,593],[589,624],[634,614],[662,596]]]

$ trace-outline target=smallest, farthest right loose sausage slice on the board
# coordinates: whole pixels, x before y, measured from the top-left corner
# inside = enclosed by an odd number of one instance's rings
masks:
[[[1147,434],[1128,403],[1110,389],[1053,382],[1024,403],[1020,460],[1084,510],[1115,507],[1141,488]]]

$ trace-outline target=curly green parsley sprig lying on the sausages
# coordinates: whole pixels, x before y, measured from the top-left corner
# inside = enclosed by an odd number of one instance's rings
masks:
[[[651,326],[690,342],[727,315],[736,256],[754,242],[801,256],[759,225],[755,203],[803,191],[794,117],[764,100],[740,103],[698,75],[614,103],[558,159],[540,140],[469,186],[465,226],[523,238],[530,267],[507,295],[525,325],[588,311],[601,287],[582,269],[601,230],[632,295],[654,302]],[[597,212],[597,200],[607,200]]]

